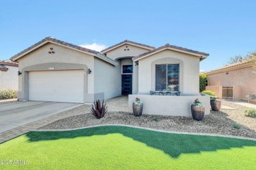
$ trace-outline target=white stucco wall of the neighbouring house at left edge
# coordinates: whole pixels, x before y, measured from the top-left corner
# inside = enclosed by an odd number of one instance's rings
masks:
[[[18,90],[18,67],[5,65],[8,71],[0,71],[0,89]]]

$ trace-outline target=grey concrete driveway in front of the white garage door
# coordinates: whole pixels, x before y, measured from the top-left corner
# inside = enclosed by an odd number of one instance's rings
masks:
[[[0,133],[81,105],[47,101],[20,101],[0,105]]]

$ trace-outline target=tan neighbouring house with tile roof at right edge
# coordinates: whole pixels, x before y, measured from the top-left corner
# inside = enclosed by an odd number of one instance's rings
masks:
[[[221,99],[256,102],[256,74],[253,72],[253,63],[249,59],[208,71],[205,73],[206,90],[215,92]]]

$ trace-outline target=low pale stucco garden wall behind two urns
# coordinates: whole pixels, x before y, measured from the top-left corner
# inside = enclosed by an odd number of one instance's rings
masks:
[[[142,114],[192,116],[191,105],[195,99],[199,99],[205,105],[205,115],[210,114],[209,95],[129,95],[129,112],[133,112],[133,102],[136,97],[143,102]]]

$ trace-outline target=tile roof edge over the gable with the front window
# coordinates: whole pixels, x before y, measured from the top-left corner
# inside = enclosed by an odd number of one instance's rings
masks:
[[[203,56],[209,56],[209,54],[204,53],[204,52],[198,52],[198,51],[195,51],[195,50],[190,50],[188,48],[182,48],[180,46],[173,46],[173,45],[170,45],[170,44],[167,43],[164,46],[160,46],[159,48],[155,48],[154,50],[151,50],[149,52],[145,52],[143,54],[140,54],[139,56],[136,56],[135,58],[133,58],[133,60],[142,58],[143,56],[146,56],[148,54],[152,54],[152,53],[157,52],[157,51],[159,51],[163,48],[175,48],[177,50],[182,50],[182,51],[185,51],[185,52],[192,52],[192,53],[195,53],[195,54],[201,54]]]

